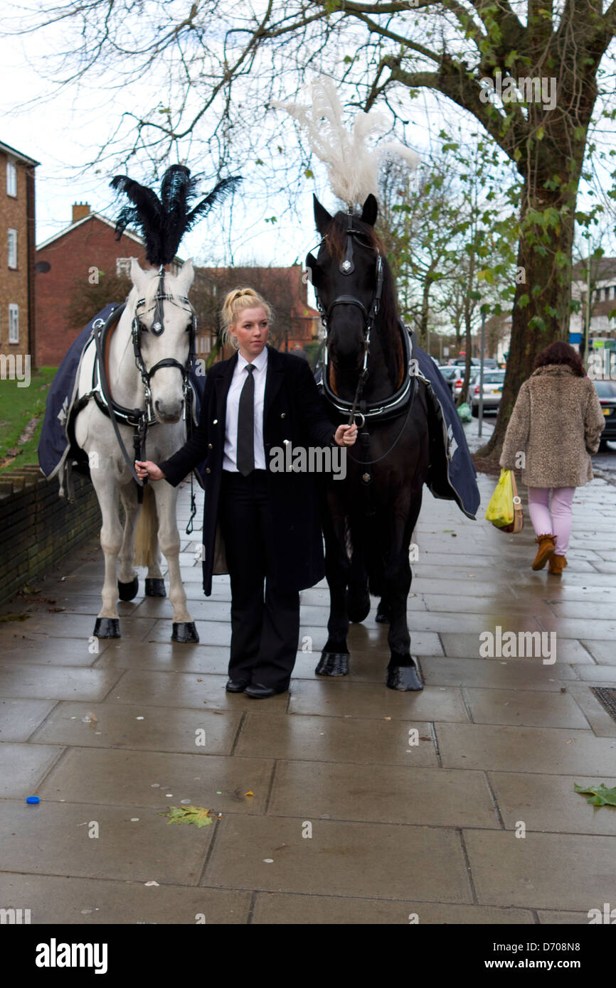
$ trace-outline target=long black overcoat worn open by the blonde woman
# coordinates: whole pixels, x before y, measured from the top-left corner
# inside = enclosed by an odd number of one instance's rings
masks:
[[[270,463],[270,450],[284,449],[286,441],[294,448],[335,446],[336,427],[323,409],[308,363],[270,346],[267,350],[263,407],[266,466]],[[199,426],[181,450],[158,464],[168,482],[176,487],[207,456],[203,474],[203,586],[207,597],[212,594],[213,573],[227,572],[220,535],[219,499],[226,395],[236,364],[237,353],[208,371]],[[268,468],[267,483],[277,583],[287,590],[312,587],[324,576],[315,477],[311,473],[274,472]]]

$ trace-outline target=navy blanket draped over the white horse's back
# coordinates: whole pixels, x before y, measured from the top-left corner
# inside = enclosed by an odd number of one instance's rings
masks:
[[[77,399],[79,366],[86,345],[94,335],[94,323],[99,319],[106,322],[117,307],[116,303],[110,302],[92,316],[64,355],[47,392],[43,429],[39,441],[39,465],[47,479],[58,476],[60,497],[65,497],[67,492],[69,500],[72,500],[72,471],[85,476],[90,475],[87,455],[76,446],[73,433],[73,409]],[[205,381],[202,365],[195,360],[189,376],[193,392],[192,422],[187,423],[189,430],[192,430],[193,423],[195,426],[199,423]],[[203,487],[201,473],[202,466],[195,470],[195,476]]]

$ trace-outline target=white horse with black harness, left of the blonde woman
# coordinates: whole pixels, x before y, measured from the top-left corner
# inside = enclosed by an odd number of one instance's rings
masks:
[[[192,261],[186,261],[177,276],[165,272],[164,300],[157,301],[159,272],[155,269],[142,271],[136,259],[132,258],[132,289],[126,308],[111,334],[108,357],[111,395],[126,408],[145,408],[143,381],[135,365],[132,344],[135,308],[145,370],[149,371],[165,358],[173,358],[185,366],[194,315],[188,303],[188,292],[194,277]],[[142,302],[137,308],[139,299]],[[163,314],[162,331],[154,323],[155,313],[158,318]],[[152,325],[157,332],[152,332]],[[92,345],[81,361],[79,396],[92,390],[95,356]],[[186,441],[182,372],[177,366],[160,367],[152,374],[149,387],[156,424],[147,430],[146,453],[143,451],[141,458],[160,462],[179,450]],[[134,565],[147,566],[146,595],[165,596],[160,571],[161,549],[169,568],[169,600],[173,606],[172,640],[199,641],[194,621],[186,608],[186,594],[180,576],[180,535],[176,522],[178,489],[165,480],[148,483],[143,489],[142,506],[139,506],[137,486],[119,447],[112,422],[93,397],[77,413],[74,428],[77,445],[88,454],[90,475],[103,516],[101,548],[105,555],[105,582],[103,606],[94,634],[98,637],[120,637],[117,601],[119,596],[121,600],[132,600],[137,593],[138,578]],[[134,430],[122,423],[119,423],[119,429],[127,452],[133,459]],[[126,514],[124,533],[119,517],[118,495],[122,498]],[[142,507],[140,513],[139,507]],[[117,573],[118,560],[120,568]]]

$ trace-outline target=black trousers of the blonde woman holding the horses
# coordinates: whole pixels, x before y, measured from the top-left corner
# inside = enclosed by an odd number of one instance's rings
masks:
[[[222,470],[219,505],[231,581],[229,679],[287,690],[300,641],[300,594],[276,584],[267,471],[244,477]]]

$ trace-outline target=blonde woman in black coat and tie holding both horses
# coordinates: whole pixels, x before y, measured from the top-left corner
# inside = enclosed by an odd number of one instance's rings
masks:
[[[169,459],[135,462],[139,477],[174,487],[207,455],[204,591],[231,583],[226,690],[255,700],[289,689],[300,637],[300,590],[324,575],[315,478],[275,471],[270,452],[352,446],[356,426],[325,415],[308,363],[267,346],[271,309],[252,288],[227,294],[224,338],[237,347],[208,371],[199,426]],[[225,555],[225,563],[222,561]],[[265,584],[265,599],[264,599]]]

